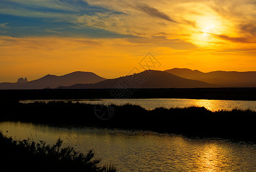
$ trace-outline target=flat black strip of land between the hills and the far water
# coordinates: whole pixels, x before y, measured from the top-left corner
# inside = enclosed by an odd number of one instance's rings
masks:
[[[118,91],[121,97],[111,95]],[[122,95],[122,92],[127,93]],[[157,89],[32,89],[0,90],[1,100],[183,98],[256,100],[256,88],[157,88]]]

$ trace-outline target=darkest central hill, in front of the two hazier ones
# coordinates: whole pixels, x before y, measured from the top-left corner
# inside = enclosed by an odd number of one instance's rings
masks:
[[[143,71],[135,75],[107,79],[95,84],[75,84],[61,89],[85,88],[195,88],[214,87],[203,81],[184,79],[164,71]]]

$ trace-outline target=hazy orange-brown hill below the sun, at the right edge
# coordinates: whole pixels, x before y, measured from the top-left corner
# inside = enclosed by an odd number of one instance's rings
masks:
[[[256,87],[256,72],[214,71],[200,72],[191,69],[173,68],[165,72],[186,79],[204,81],[218,87]]]

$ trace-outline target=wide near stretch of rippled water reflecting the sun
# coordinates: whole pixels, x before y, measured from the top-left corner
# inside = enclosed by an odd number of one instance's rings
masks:
[[[113,162],[119,171],[255,171],[256,145],[222,139],[188,139],[150,131],[87,127],[57,127],[1,122],[0,130],[15,139],[32,138],[84,153],[94,148],[102,163]],[[5,132],[8,130],[8,132]]]

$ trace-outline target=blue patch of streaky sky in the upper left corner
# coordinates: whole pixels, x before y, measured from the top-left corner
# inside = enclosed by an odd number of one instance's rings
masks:
[[[76,22],[77,17],[120,12],[83,1],[0,1],[0,34],[11,37],[72,36],[123,37],[102,28]]]

